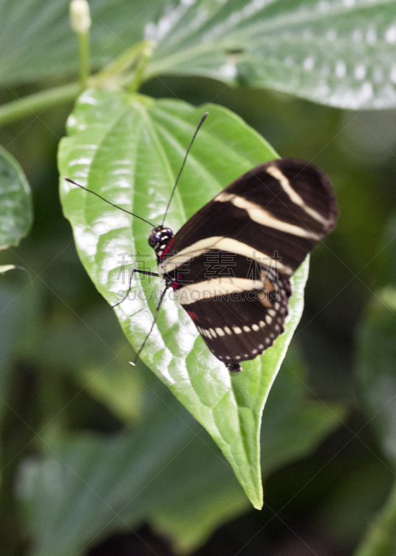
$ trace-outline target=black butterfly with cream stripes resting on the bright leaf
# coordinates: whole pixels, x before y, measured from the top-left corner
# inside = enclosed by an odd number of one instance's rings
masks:
[[[158,273],[133,272],[162,277],[165,290],[157,314],[172,288],[209,350],[238,373],[242,361],[262,354],[282,334],[290,277],[337,218],[327,176],[305,161],[280,158],[233,181],[176,234],[164,225],[165,217],[153,225],[149,245],[156,253]]]

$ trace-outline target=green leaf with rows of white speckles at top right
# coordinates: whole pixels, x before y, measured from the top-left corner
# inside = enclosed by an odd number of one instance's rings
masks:
[[[149,33],[160,41],[154,73],[242,81],[343,108],[396,104],[395,1],[186,4]]]

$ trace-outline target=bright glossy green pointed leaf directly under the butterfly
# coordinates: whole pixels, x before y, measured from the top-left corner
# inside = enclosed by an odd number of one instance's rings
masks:
[[[215,105],[193,108],[180,101],[153,101],[123,92],[87,91],[69,118],[69,138],[60,145],[60,188],[65,215],[72,223],[81,261],[110,304],[128,284],[129,264],[155,270],[149,253],[150,227],[70,184],[100,191],[151,222],[160,222],[176,174],[195,127],[209,111],[199,132],[167,215],[174,231],[215,193],[274,151],[240,118]],[[124,255],[123,255],[124,254]],[[124,257],[124,258],[123,258]],[[308,261],[292,280],[293,295],[286,332],[263,357],[244,363],[230,376],[207,349],[181,306],[166,297],[142,359],[204,425],[230,461],[255,507],[262,505],[258,435],[261,412],[274,377],[302,313]],[[159,279],[140,277],[129,299],[116,312],[136,348],[147,336]]]

